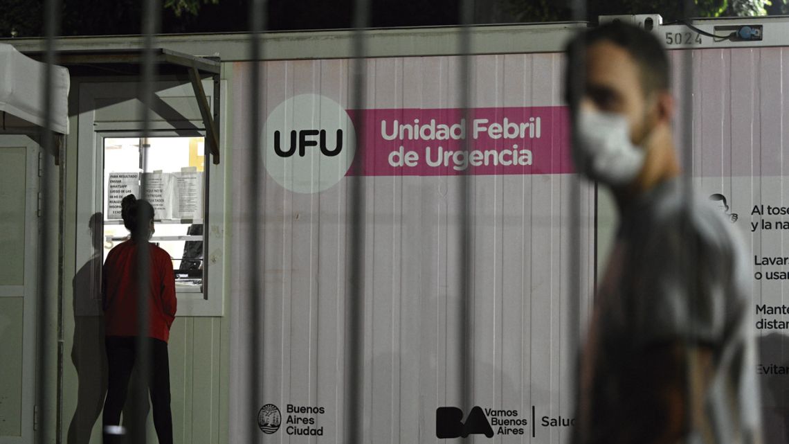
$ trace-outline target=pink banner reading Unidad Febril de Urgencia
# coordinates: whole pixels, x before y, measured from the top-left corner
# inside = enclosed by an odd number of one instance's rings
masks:
[[[467,115],[462,108],[348,113],[358,134],[348,175],[573,172],[567,107],[472,108]]]

